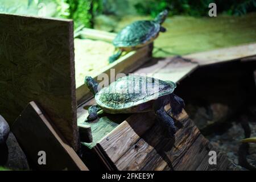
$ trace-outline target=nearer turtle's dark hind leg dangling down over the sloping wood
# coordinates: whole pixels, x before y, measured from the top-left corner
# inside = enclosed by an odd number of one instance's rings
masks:
[[[155,111],[156,118],[164,130],[167,130],[167,138],[173,138],[176,133],[174,119],[170,117],[164,110],[166,100],[159,98],[155,101],[153,109]]]

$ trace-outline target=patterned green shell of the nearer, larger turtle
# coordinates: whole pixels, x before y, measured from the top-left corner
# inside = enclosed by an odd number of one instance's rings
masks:
[[[152,100],[174,92],[176,84],[152,77],[125,76],[100,90],[97,104],[107,113],[137,113],[152,110]]]

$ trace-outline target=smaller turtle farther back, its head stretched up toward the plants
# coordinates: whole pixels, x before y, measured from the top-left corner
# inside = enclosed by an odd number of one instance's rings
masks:
[[[133,22],[118,32],[113,40],[117,53],[109,57],[109,63],[117,60],[123,51],[129,52],[141,48],[153,42],[159,35],[159,32],[166,32],[166,28],[161,24],[168,15],[164,10],[156,16],[154,20],[139,20]]]

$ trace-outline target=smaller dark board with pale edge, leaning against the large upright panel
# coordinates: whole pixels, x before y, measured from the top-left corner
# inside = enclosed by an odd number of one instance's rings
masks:
[[[36,169],[88,170],[35,102],[27,105],[11,130]],[[46,152],[46,165],[38,164],[39,151]]]

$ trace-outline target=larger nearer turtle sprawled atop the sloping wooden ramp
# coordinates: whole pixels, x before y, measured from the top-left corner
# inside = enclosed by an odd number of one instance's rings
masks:
[[[110,114],[143,113],[153,110],[164,128],[166,137],[174,137],[174,119],[166,113],[164,106],[170,104],[173,116],[180,114],[185,106],[183,99],[174,94],[175,82],[129,75],[118,78],[100,90],[98,83],[92,77],[86,76],[85,85],[94,94],[97,103],[88,108],[88,122],[97,119],[97,114],[101,110]]]

